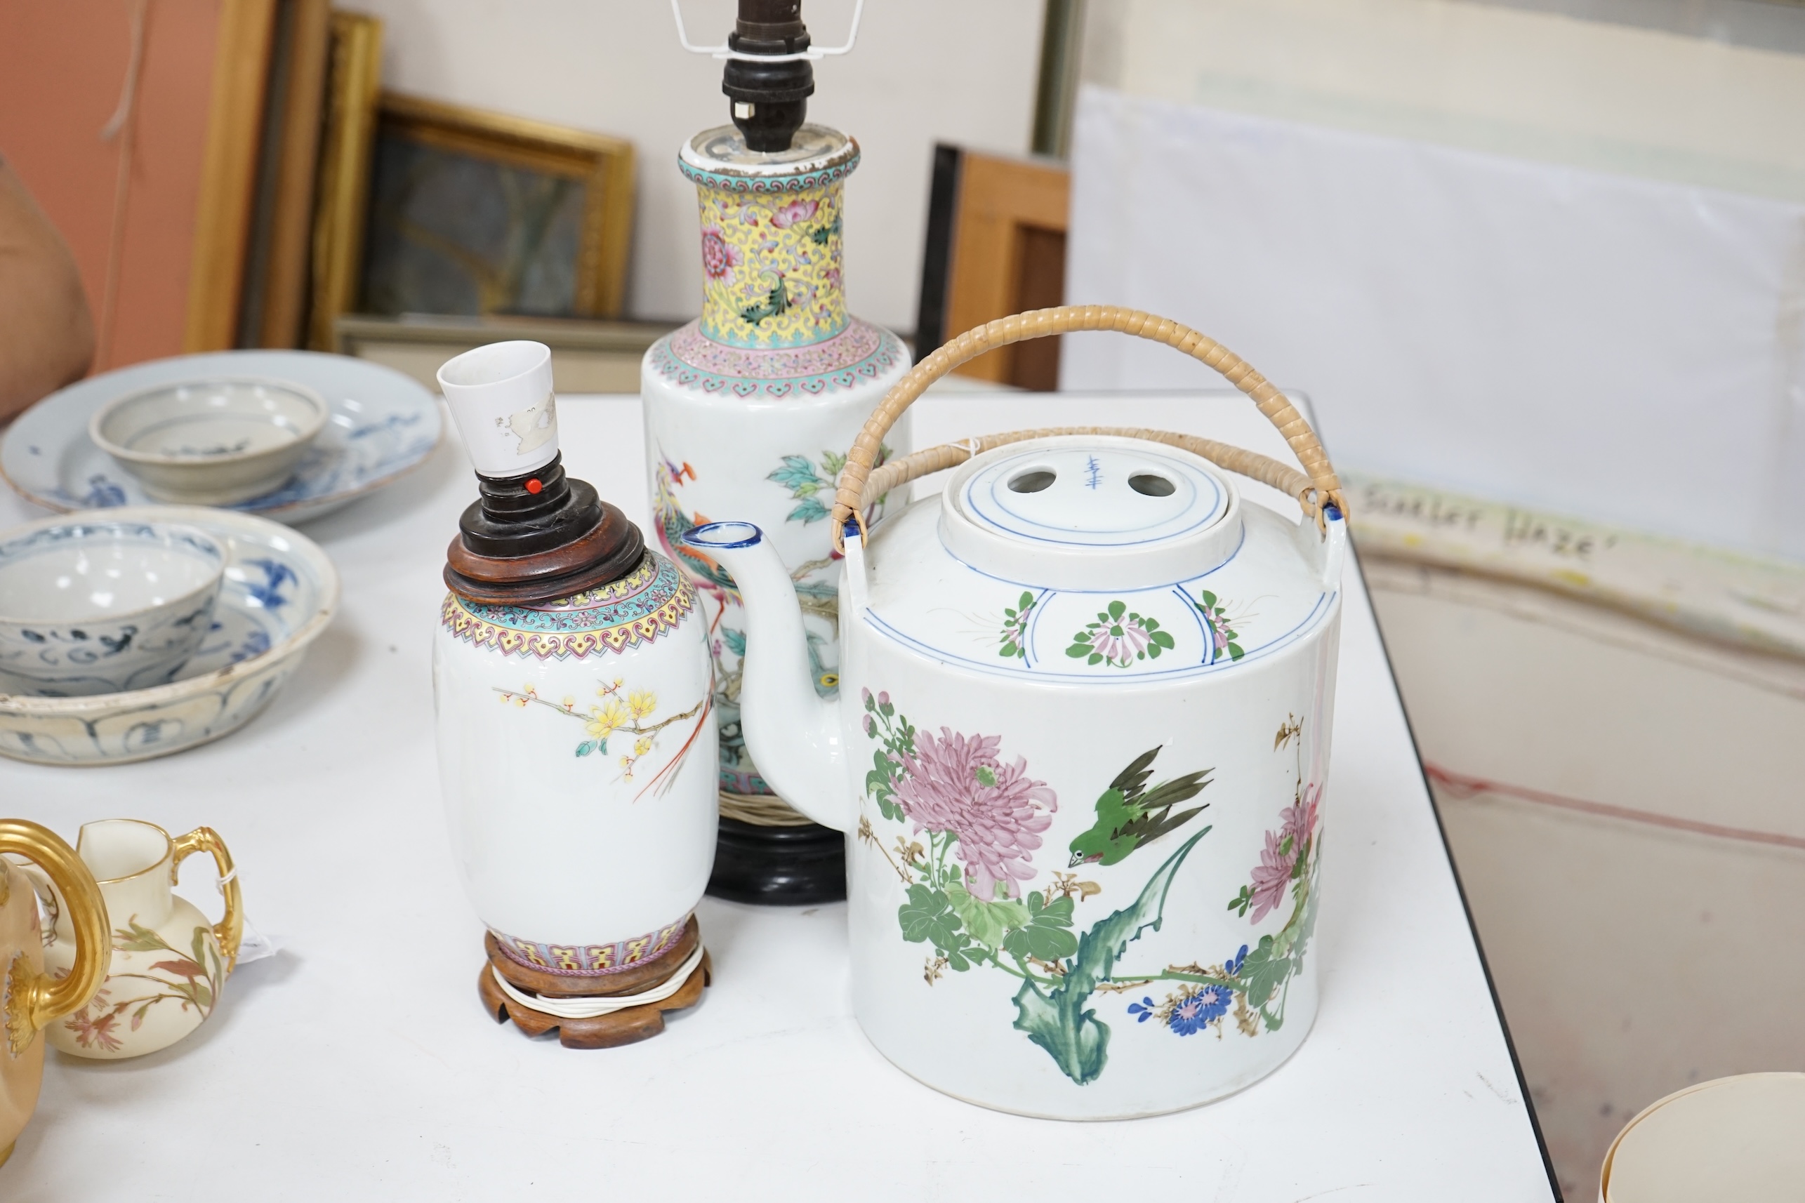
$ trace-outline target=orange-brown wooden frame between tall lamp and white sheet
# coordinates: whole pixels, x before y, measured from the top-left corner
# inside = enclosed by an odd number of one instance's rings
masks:
[[[935,148],[922,256],[917,359],[986,321],[1065,303],[1070,173],[1038,159]],[[1002,346],[960,375],[1032,390],[1058,388],[1058,339]]]

